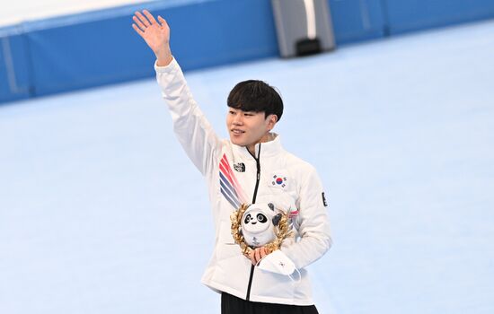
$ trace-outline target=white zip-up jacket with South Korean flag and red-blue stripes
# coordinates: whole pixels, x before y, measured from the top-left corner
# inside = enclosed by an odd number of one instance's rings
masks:
[[[278,135],[268,143],[257,144],[255,158],[246,147],[218,138],[192,98],[180,65],[173,59],[172,64],[154,65],[154,69],[172,114],[174,131],[207,179],[216,244],[202,283],[244,300],[312,305],[304,267],[331,247],[326,201],[313,166],[287,153]],[[296,237],[285,240],[281,252],[300,271],[300,280],[252,266],[234,244],[232,212],[241,203],[269,202],[286,211],[298,210],[293,219]]]

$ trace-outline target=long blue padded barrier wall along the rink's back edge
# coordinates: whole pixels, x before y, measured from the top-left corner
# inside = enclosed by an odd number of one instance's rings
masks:
[[[494,16],[492,0],[327,0],[338,45]],[[278,56],[270,0],[155,1],[0,29],[0,103],[154,75],[132,30],[148,8],[184,70]]]

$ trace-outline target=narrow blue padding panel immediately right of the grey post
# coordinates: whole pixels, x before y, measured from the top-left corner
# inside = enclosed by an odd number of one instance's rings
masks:
[[[384,36],[382,0],[328,0],[337,44]]]

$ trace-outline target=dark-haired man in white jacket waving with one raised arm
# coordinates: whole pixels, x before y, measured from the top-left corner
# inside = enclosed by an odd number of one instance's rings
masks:
[[[283,113],[278,92],[261,81],[235,85],[227,100],[230,139],[222,140],[172,57],[166,21],[161,16],[156,21],[146,10],[133,20],[132,27],[156,56],[154,69],[174,131],[207,179],[216,244],[202,283],[221,292],[223,314],[317,313],[304,267],[331,247],[326,200],[313,167],[287,153],[271,132]],[[269,204],[289,215],[293,236],[273,252],[260,246],[244,255],[234,245],[230,217],[245,203]]]

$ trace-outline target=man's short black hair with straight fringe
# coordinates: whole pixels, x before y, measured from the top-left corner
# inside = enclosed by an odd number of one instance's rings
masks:
[[[264,112],[264,117],[283,114],[283,100],[274,87],[257,80],[243,81],[235,85],[227,100],[228,107],[243,111]]]

